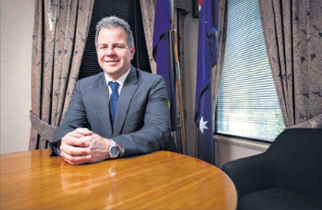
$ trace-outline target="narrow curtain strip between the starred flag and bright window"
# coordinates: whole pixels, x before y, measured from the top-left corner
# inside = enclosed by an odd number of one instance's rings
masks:
[[[219,0],[219,25],[217,31],[217,64],[211,69],[212,70],[212,118],[215,122],[215,111],[217,105],[217,98],[219,92],[220,79],[222,74],[223,61],[225,56],[226,49],[226,40],[227,40],[227,20],[228,20],[228,1]],[[215,125],[215,124],[214,124]],[[215,131],[215,129],[214,129]]]

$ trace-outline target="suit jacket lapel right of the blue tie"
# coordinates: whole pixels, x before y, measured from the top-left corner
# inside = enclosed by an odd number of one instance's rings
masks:
[[[131,66],[130,73],[124,81],[119,95],[119,100],[117,102],[113,137],[118,136],[121,133],[122,127],[125,122],[125,117],[136,88],[137,75],[135,68]]]

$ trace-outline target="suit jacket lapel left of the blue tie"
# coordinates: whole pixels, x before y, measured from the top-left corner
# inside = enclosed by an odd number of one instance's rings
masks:
[[[109,88],[106,84],[104,72],[101,73],[101,78],[98,80],[94,88],[94,104],[96,115],[100,116],[102,125],[106,131],[106,138],[113,136],[111,120],[110,120],[110,106],[109,106]],[[101,125],[100,125],[101,126]]]

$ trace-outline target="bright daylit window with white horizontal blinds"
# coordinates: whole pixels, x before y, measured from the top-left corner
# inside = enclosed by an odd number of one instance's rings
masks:
[[[227,27],[216,132],[273,141],[285,127],[257,0],[229,0]]]

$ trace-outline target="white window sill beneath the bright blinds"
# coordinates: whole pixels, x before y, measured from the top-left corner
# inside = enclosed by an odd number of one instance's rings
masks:
[[[257,150],[260,152],[265,152],[267,148],[271,145],[271,143],[267,142],[252,141],[238,137],[227,137],[219,134],[214,135],[214,140],[215,142],[218,142],[220,144],[229,144],[237,147]]]

